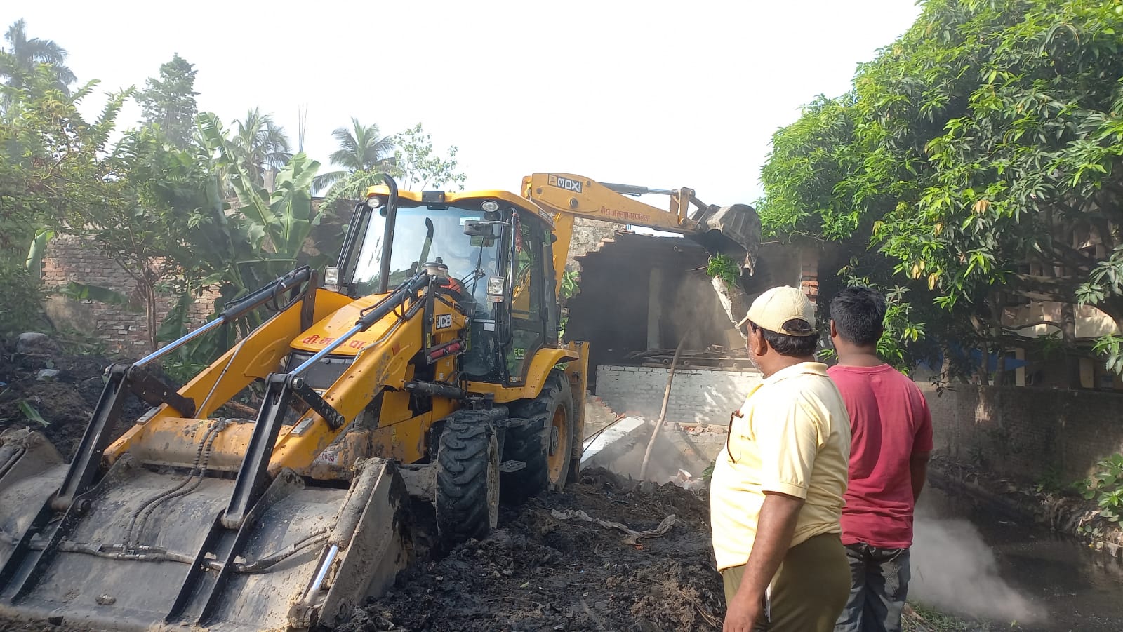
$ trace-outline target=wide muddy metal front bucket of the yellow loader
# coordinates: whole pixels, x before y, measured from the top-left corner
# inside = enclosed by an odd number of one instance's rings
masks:
[[[49,506],[65,473],[24,439],[21,455],[0,445],[0,616],[113,631],[304,630],[381,594],[410,561],[405,488],[383,459],[360,459],[349,488],[282,470],[230,529],[234,479],[156,471],[126,455],[20,542],[13,534]]]

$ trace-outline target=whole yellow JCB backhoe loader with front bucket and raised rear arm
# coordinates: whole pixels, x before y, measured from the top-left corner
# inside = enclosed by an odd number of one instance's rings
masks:
[[[331,625],[410,562],[411,496],[454,543],[494,528],[501,500],[560,488],[579,464],[588,358],[558,338],[574,218],[756,256],[750,207],[626,195],[648,192],[569,174],[529,176],[522,195],[372,187],[322,286],[295,269],[111,366],[72,462],[38,432],[0,434],[0,615]],[[177,392],[146,370],[261,306],[275,314]],[[217,415],[252,383],[256,419]],[[120,434],[129,393],[153,407]]]

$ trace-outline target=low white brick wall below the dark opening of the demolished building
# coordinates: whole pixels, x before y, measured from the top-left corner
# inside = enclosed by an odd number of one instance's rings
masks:
[[[667,388],[666,368],[596,367],[596,394],[617,412],[658,419]],[[749,388],[760,383],[756,372],[676,370],[667,404],[667,421],[725,427],[729,414],[745,402]]]

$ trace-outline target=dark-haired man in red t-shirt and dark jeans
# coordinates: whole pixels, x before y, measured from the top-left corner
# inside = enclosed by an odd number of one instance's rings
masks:
[[[842,543],[850,598],[834,632],[900,632],[909,592],[913,509],[932,451],[932,415],[920,388],[877,356],[885,299],[848,287],[831,301],[828,369],[850,413],[850,483]]]

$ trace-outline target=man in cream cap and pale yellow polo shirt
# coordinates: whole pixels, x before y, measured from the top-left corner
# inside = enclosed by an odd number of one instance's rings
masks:
[[[839,528],[849,415],[815,361],[814,306],[803,292],[768,290],[738,327],[765,379],[730,416],[711,480],[724,630],[828,632],[850,592]]]

